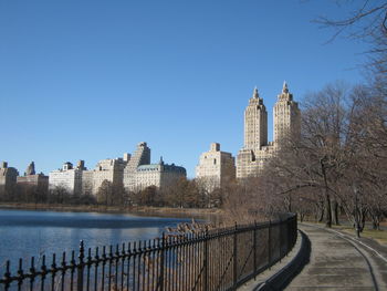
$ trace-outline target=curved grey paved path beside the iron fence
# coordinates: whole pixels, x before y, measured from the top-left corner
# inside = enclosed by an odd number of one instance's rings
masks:
[[[285,290],[387,290],[387,248],[318,226],[299,228],[311,240],[311,259]]]

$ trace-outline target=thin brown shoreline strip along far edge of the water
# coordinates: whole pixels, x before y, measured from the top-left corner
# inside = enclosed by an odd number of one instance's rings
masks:
[[[40,210],[59,212],[100,212],[100,214],[133,214],[139,216],[177,216],[208,217],[222,212],[219,208],[171,208],[153,206],[101,206],[101,205],[60,205],[60,204],[25,204],[0,202],[3,210]]]

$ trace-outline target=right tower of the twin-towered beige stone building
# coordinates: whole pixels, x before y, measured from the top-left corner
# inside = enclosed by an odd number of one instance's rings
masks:
[[[274,146],[281,148],[290,139],[300,138],[301,115],[299,103],[293,101],[293,94],[289,92],[286,82],[273,110],[274,118]]]

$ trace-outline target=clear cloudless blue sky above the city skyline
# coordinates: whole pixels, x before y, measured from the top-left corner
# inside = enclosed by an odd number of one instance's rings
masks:
[[[349,2],[349,1],[346,1]],[[358,2],[358,1],[354,1]],[[0,0],[0,160],[23,174],[133,153],[187,168],[211,142],[237,155],[257,85],[269,112],[357,83],[366,50],[311,20],[330,0]]]

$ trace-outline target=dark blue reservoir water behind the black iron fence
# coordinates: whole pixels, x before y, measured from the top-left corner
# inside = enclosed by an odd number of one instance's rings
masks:
[[[166,227],[190,218],[143,217],[128,214],[54,212],[0,209],[0,276],[6,260],[14,268],[19,258],[30,260],[53,252],[154,239]],[[28,262],[28,261],[25,261]],[[27,264],[28,266],[28,264]],[[12,268],[12,269],[13,269]]]

